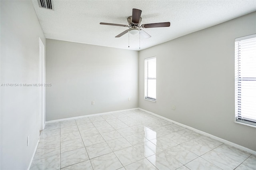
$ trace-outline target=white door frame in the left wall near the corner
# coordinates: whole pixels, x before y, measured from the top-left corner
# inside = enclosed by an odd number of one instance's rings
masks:
[[[44,43],[39,37],[39,67],[38,67],[38,133],[45,126],[45,56]]]

